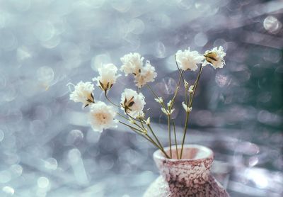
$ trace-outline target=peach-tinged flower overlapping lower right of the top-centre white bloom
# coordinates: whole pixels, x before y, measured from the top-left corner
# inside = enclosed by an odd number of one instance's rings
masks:
[[[139,88],[141,88],[141,86],[144,86],[148,82],[153,82],[155,77],[157,76],[155,68],[151,66],[149,61],[146,61],[146,65],[144,67],[141,67],[140,70],[141,72],[138,72],[134,76],[134,82]]]

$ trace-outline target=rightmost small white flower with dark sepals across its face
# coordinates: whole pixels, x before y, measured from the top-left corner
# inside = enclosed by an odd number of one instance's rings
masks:
[[[224,49],[221,46],[218,49],[217,47],[214,47],[212,50],[207,50],[204,53],[205,62],[203,65],[205,66],[206,64],[212,64],[212,67],[214,67],[214,69],[223,68],[223,66],[225,65],[225,55],[226,52],[224,52]]]

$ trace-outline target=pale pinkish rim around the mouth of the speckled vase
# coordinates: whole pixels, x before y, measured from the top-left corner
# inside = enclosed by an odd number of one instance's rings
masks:
[[[182,147],[182,145],[178,145],[178,150],[180,150],[180,148]],[[197,160],[202,160],[202,159],[207,159],[209,157],[213,157],[213,151],[209,148],[209,147],[205,147],[202,145],[184,145],[183,146],[183,150],[185,149],[197,149],[197,150],[201,150],[204,155],[202,155],[202,157],[197,157],[197,158],[190,158],[190,159],[170,159],[170,158],[166,158],[166,156],[163,154],[163,152],[161,152],[161,150],[156,150],[154,152],[154,158],[155,159],[161,159],[161,160],[168,160],[171,162],[177,162],[177,161],[197,161]],[[173,151],[175,151],[175,145],[171,147],[171,149]],[[165,152],[168,153],[168,151],[170,150],[170,147],[164,147]]]

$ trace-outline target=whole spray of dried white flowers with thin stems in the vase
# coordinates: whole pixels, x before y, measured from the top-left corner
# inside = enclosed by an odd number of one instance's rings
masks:
[[[190,48],[183,51],[178,50],[175,54],[175,63],[177,67],[176,69],[178,69],[179,72],[179,79],[173,97],[168,103],[165,103],[163,98],[158,96],[149,84],[150,82],[154,82],[157,76],[155,68],[148,60],[144,64],[144,57],[141,57],[137,52],[129,53],[120,58],[122,62],[120,72],[124,72],[126,77],[129,74],[134,76],[134,83],[137,86],[137,91],[133,89],[125,89],[121,94],[121,101],[119,104],[114,103],[108,98],[108,92],[112,89],[112,86],[115,85],[117,78],[121,76],[121,74],[118,74],[119,70],[114,64],[103,65],[98,69],[99,76],[93,78],[93,81],[96,81],[96,86],[104,92],[105,99],[109,103],[96,101],[95,96],[93,96],[94,84],[90,81],[80,81],[78,84],[74,85],[74,91],[71,92],[70,99],[74,102],[83,103],[84,108],[89,108],[88,122],[94,131],[102,132],[108,128],[117,128],[117,123],[121,123],[122,125],[126,125],[134,133],[137,133],[148,140],[152,145],[161,150],[167,158],[172,158],[172,149],[175,148],[177,153],[177,158],[175,159],[182,159],[188,120],[192,111],[192,101],[195,96],[197,84],[200,81],[202,69],[207,64],[211,64],[214,69],[224,67],[225,55],[226,52],[224,52],[224,49],[221,46],[214,47],[212,50],[207,50],[204,52],[204,55],[201,55],[197,51],[191,51]],[[195,82],[193,84],[188,84],[183,75],[186,74],[186,72],[195,72],[197,69],[198,73]],[[174,111],[175,98],[182,85],[185,87],[185,101],[182,103],[185,110],[185,123],[183,138],[181,139],[181,148],[180,152],[178,152],[175,120],[172,118],[172,113]],[[150,116],[144,112],[146,102],[144,95],[141,93],[141,89],[144,86],[151,91],[155,97],[155,101],[161,106],[161,112],[167,116],[168,144],[170,152],[164,150],[163,145],[160,140],[158,140],[156,133],[154,133],[154,130],[151,127]],[[120,113],[119,109],[122,110],[123,113]],[[173,136],[175,138],[174,141],[171,139],[172,128]]]

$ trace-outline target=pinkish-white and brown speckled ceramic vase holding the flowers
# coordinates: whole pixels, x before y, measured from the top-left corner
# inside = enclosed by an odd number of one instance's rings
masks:
[[[169,154],[168,147],[165,150]],[[178,152],[180,154],[180,146]],[[175,148],[172,148],[172,156],[173,159],[167,159],[160,150],[154,152],[161,176],[149,186],[144,197],[229,196],[210,174],[212,150],[200,145],[185,145],[183,159],[175,159]]]

